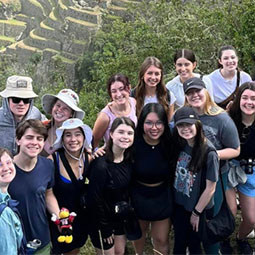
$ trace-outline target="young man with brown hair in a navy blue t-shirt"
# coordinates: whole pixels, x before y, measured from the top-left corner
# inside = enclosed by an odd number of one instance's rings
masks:
[[[19,153],[14,157],[16,177],[9,186],[17,206],[27,241],[39,239],[41,246],[36,254],[50,254],[50,232],[46,208],[59,215],[59,206],[53,194],[54,165],[39,156],[47,138],[47,130],[39,120],[26,120],[16,130]]]

